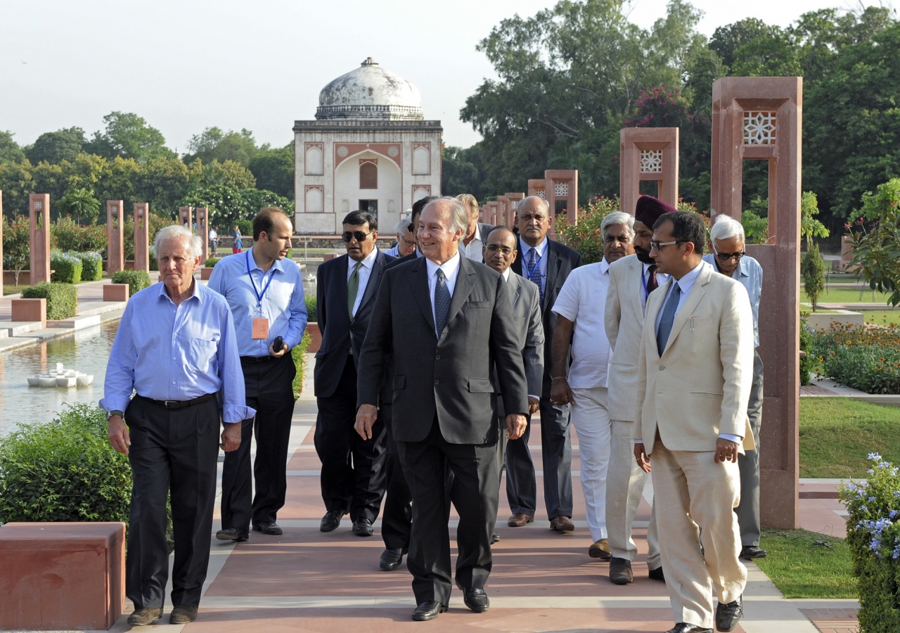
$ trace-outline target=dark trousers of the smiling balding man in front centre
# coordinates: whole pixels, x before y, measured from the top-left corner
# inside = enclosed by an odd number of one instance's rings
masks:
[[[495,443],[450,444],[441,436],[437,419],[421,442],[398,442],[398,450],[412,493],[412,533],[407,567],[417,604],[448,604],[452,589],[450,506],[446,487],[454,475],[450,500],[459,512],[456,529],[456,582],[483,588],[491,574],[491,533],[497,519],[500,465]]]

